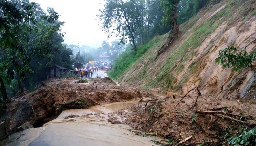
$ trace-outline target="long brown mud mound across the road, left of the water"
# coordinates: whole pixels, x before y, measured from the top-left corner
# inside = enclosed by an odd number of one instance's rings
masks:
[[[8,134],[42,126],[65,109],[83,109],[143,96],[145,94],[138,89],[117,87],[110,78],[95,78],[89,83],[77,83],[74,78],[50,82],[32,93],[25,93],[9,101],[6,109],[10,118]]]

